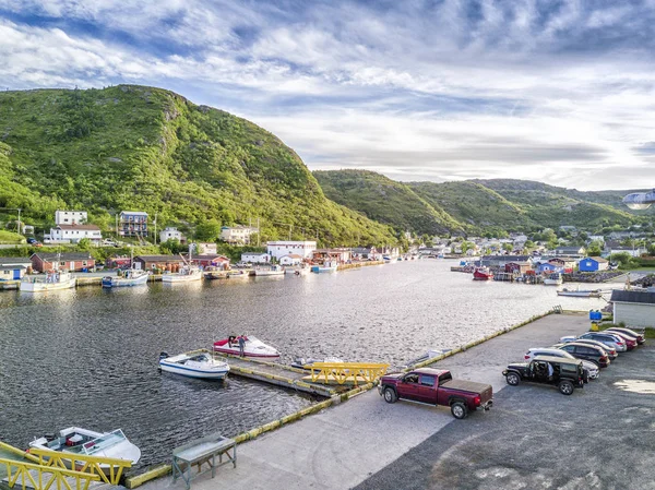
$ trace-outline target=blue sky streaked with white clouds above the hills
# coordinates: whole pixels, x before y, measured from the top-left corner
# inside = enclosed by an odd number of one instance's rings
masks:
[[[168,88],[311,170],[655,187],[655,0],[3,0],[0,88]]]

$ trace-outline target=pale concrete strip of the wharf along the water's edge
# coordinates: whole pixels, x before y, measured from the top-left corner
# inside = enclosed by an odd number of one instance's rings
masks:
[[[317,415],[239,445],[239,464],[236,469],[222,468],[217,471],[216,478],[201,478],[193,483],[193,487],[196,490],[349,489],[365,482],[372,475],[383,470],[388,465],[428,439],[433,439],[434,434],[446,430],[450,426],[452,426],[452,430],[456,431],[466,428],[467,425],[476,425],[478,430],[488,432],[495,430],[500,421],[509,423],[508,427],[511,428],[512,406],[500,401],[508,387],[513,390],[512,394],[527,397],[527,403],[535,409],[548,409],[549,405],[539,402],[539,397],[544,396],[548,399],[552,398],[549,404],[563,404],[564,407],[570,406],[564,409],[575,410],[573,404],[579,403],[576,401],[582,398],[582,395],[593,396],[603,393],[606,387],[596,381],[584,390],[576,390],[572,396],[564,397],[557,390],[545,386],[508,386],[501,372],[509,362],[523,360],[523,355],[528,348],[550,346],[564,335],[581,334],[587,331],[588,326],[590,321],[586,314],[550,314],[434,364],[437,368],[450,369],[456,378],[491,384],[497,403],[489,413],[476,411],[465,420],[455,420],[446,407],[429,407],[407,402],[390,405],[382,401],[377,390],[372,390],[345,404],[326,408]],[[647,349],[650,347],[641,351],[621,354],[621,358],[628,357],[627,363],[634,358],[633,356],[647,354]],[[621,363],[621,358],[617,361],[618,364]],[[607,370],[603,370],[600,379],[612,369],[614,367],[610,366]],[[521,390],[524,391],[521,392]],[[652,399],[650,403],[654,405],[652,409],[655,409],[655,403]],[[588,414],[582,411],[580,416],[586,418]],[[537,415],[537,417],[539,416]],[[206,429],[207,432],[211,432],[221,428],[207,427]],[[504,427],[503,430],[509,429]],[[603,434],[603,431],[600,433]],[[544,434],[541,433],[541,435]],[[493,438],[493,435],[489,437]],[[514,437],[521,439],[521,434]],[[568,444],[573,444],[573,451],[585,444],[584,437],[567,441]],[[492,443],[491,440],[490,444]],[[466,452],[465,449],[462,451]],[[502,450],[502,447],[499,449],[501,452]],[[568,462],[573,465],[572,459],[570,458]],[[427,475],[420,475],[421,478],[429,478],[429,468],[432,463],[433,461],[427,462],[425,467],[421,466],[427,471]],[[582,466],[587,463],[579,462]],[[479,464],[485,466],[484,461]],[[412,466],[412,463],[409,462],[407,468]],[[424,488],[410,485],[408,479],[419,475],[413,475],[410,469],[407,471],[407,474],[403,474],[404,480],[398,480],[398,478],[394,480],[391,475],[389,480],[371,479],[372,483],[364,487],[371,489]],[[393,471],[391,473],[393,474]],[[650,476],[644,476],[644,482],[652,481],[650,477],[653,477],[652,473]],[[177,489],[179,486],[172,486],[170,478],[160,478],[145,483],[144,488],[167,490],[169,488]]]

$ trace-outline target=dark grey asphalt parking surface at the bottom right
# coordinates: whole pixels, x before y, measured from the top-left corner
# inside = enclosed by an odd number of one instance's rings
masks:
[[[520,360],[503,350],[495,357]],[[472,354],[442,364],[454,372],[472,364],[469,378],[485,370]],[[545,385],[498,386],[497,369],[488,379],[480,371],[478,380],[493,381],[489,413],[446,425],[356,489],[655,489],[654,366],[653,346],[621,354],[571,396]]]

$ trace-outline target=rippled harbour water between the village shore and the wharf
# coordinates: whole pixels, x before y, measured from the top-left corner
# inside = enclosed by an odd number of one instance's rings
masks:
[[[160,350],[210,347],[251,334],[294,356],[402,363],[543,313],[605,301],[555,287],[474,282],[452,261],[410,261],[307,277],[160,283],[44,295],[0,294],[0,440],[25,447],[69,426],[122,428],[167,461],[205,433],[237,433],[314,399],[231,377],[228,383],[159,374]],[[591,285],[590,285],[591,286]]]

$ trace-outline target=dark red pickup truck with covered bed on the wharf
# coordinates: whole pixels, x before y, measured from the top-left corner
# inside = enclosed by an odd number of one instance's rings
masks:
[[[453,380],[450,371],[430,368],[386,374],[380,379],[378,391],[386,403],[395,403],[400,398],[451,407],[456,419],[465,418],[469,410],[488,410],[493,405],[490,384]]]

